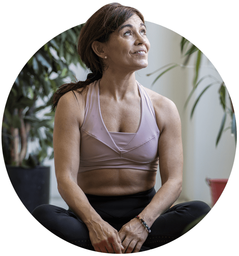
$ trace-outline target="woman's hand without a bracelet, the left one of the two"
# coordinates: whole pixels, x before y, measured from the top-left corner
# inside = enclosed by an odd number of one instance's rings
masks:
[[[91,224],[89,237],[96,252],[122,254],[124,248],[116,229],[104,220]]]

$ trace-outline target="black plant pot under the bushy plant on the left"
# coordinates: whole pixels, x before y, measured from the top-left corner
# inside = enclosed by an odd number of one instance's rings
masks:
[[[49,204],[49,166],[26,169],[6,165],[6,169],[18,198],[30,213],[41,204]]]

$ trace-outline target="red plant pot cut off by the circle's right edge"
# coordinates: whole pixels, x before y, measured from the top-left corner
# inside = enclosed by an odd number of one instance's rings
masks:
[[[217,203],[217,200],[221,196],[224,188],[226,187],[226,184],[228,182],[228,179],[209,179],[206,178],[206,182],[210,187],[211,190],[211,200],[213,203],[213,206],[215,203]]]

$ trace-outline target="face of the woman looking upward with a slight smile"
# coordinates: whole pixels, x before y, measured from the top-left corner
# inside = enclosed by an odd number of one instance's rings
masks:
[[[139,16],[134,14],[106,42],[108,68],[129,73],[146,68],[149,49],[146,27]]]

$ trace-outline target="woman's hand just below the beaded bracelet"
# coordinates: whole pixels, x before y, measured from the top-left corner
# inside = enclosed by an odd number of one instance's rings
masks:
[[[148,236],[148,230],[139,219],[134,218],[123,225],[118,234],[125,248],[122,253],[135,253],[141,249]]]

